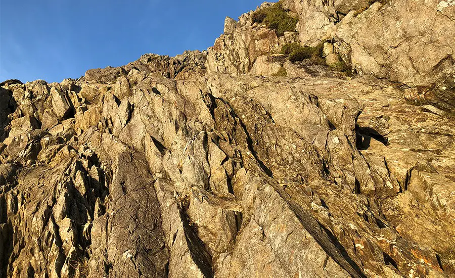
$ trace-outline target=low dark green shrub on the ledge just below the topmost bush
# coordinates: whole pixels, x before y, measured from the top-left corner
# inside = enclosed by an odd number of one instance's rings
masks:
[[[324,42],[316,45],[316,47],[303,47],[298,42],[293,42],[283,45],[281,53],[286,55],[291,62],[311,59],[315,65],[325,65],[326,60],[322,57],[323,48]]]

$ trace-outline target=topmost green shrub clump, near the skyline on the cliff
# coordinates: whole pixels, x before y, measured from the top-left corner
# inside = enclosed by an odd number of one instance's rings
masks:
[[[251,20],[253,23],[265,23],[268,28],[275,29],[278,36],[282,36],[288,31],[295,31],[299,21],[298,18],[290,16],[280,2],[255,11]]]

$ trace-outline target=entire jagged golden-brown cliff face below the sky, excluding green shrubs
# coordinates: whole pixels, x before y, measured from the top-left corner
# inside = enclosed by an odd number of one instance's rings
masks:
[[[281,5],[295,32],[1,83],[1,275],[455,275],[454,3]],[[279,54],[321,41],[356,74]]]

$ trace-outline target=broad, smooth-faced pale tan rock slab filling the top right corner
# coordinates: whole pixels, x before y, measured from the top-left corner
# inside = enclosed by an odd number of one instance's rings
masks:
[[[350,12],[329,34],[357,72],[431,87],[427,100],[453,109],[454,7],[437,0],[376,2],[357,16]]]

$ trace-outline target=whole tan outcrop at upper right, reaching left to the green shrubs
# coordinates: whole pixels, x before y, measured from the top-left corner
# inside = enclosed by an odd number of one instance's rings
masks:
[[[359,74],[403,83],[455,108],[455,2],[284,0],[305,45],[330,40]]]

